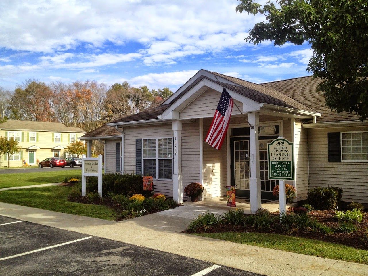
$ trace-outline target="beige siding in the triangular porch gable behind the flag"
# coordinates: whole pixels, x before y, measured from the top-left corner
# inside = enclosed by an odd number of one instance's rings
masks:
[[[187,107],[185,107],[180,112],[180,119],[189,118],[200,118],[200,117],[213,117],[217,105],[219,104],[221,93],[216,90],[208,89],[206,92],[202,93],[197,99],[191,102]],[[243,103],[234,100],[238,105],[240,110],[243,110]],[[231,114],[240,114],[236,106],[233,107],[233,112]]]

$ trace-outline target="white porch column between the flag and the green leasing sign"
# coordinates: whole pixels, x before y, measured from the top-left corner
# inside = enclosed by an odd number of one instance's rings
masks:
[[[250,183],[250,198],[251,198],[251,212],[255,213],[258,208],[261,208],[261,177],[259,173],[259,142],[258,142],[258,126],[259,113],[248,113],[248,121],[254,128],[249,129],[249,144],[250,144],[250,165],[251,177]]]

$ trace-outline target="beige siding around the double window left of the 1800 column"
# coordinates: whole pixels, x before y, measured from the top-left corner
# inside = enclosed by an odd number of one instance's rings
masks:
[[[135,139],[173,137],[172,124],[144,127],[124,127],[124,172],[135,172]],[[115,155],[115,154],[114,154]],[[173,196],[172,180],[153,180],[155,192]]]

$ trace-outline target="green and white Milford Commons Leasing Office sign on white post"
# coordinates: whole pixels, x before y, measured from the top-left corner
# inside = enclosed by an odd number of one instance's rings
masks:
[[[295,180],[294,143],[279,137],[268,143],[268,178],[279,180],[280,216],[286,212],[285,180]]]

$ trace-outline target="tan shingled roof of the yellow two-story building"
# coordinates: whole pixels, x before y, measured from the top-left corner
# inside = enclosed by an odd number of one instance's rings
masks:
[[[79,127],[67,127],[62,123],[6,120],[0,124],[3,130],[29,130],[29,131],[52,131],[52,132],[85,132]]]

